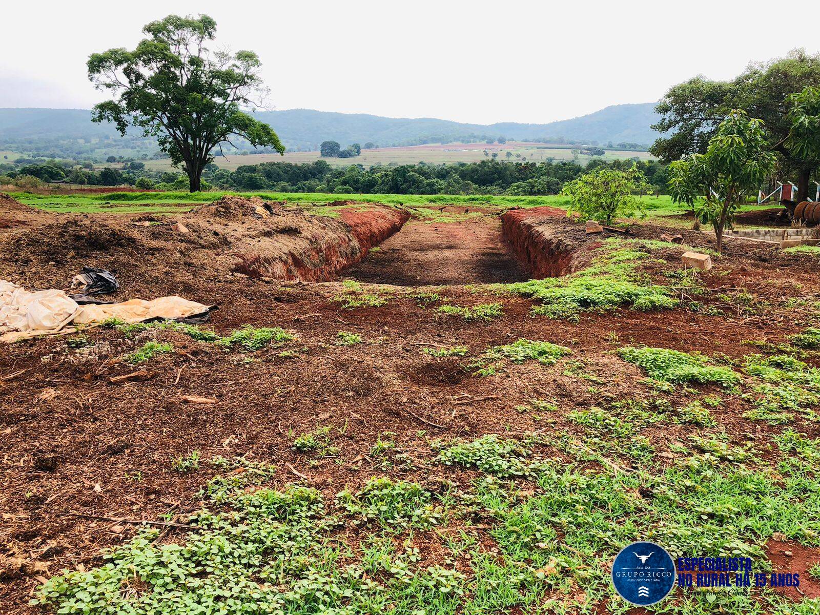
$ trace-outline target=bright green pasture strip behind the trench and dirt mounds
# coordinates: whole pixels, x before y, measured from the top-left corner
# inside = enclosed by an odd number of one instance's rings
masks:
[[[48,212],[64,213],[175,213],[186,212],[199,203],[211,203],[225,196],[257,196],[271,201],[287,201],[294,205],[310,207],[339,200],[354,200],[360,203],[385,203],[408,207],[424,205],[464,205],[497,207],[503,210],[508,207],[558,207],[567,209],[569,198],[552,196],[505,196],[492,194],[449,195],[449,194],[326,194],[326,193],[293,193],[293,192],[116,192],[103,194],[32,194],[29,192],[12,193],[11,196],[21,203],[26,203]],[[691,225],[690,219],[675,219],[686,212],[686,207],[672,203],[668,195],[645,196],[640,199],[645,208],[645,216],[636,215],[635,221],[663,221],[665,225]],[[755,209],[768,209],[772,205],[759,207],[749,204],[740,207],[747,212]],[[663,219],[663,220],[658,220]]]

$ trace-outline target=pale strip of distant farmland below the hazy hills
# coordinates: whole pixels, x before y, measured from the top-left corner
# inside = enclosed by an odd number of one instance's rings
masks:
[[[347,144],[343,144],[343,147]],[[507,152],[512,153],[509,158],[511,162],[522,162],[526,157],[526,162],[545,162],[550,157],[554,160],[572,160],[572,146],[558,146],[556,144],[537,144],[510,141],[506,144],[430,144],[413,145],[404,148],[378,148],[363,149],[362,155],[355,158],[321,158],[331,165],[348,166],[351,164],[361,164],[363,166],[373,166],[377,164],[387,165],[391,162],[396,164],[416,164],[417,162],[429,162],[430,164],[445,164],[454,162],[479,162],[487,158],[484,150],[492,155],[497,152],[499,160],[508,160]],[[516,157],[519,154],[521,157]],[[641,160],[649,160],[651,156],[648,152],[634,152],[631,150],[607,150],[604,156],[598,156],[604,160],[617,160],[623,158],[639,157]],[[578,162],[585,165],[592,160],[593,156],[578,154]],[[235,171],[238,166],[259,164],[261,162],[313,162],[319,160],[318,152],[288,152],[285,156],[279,154],[230,154],[227,157],[216,157],[214,161],[217,166]],[[111,165],[100,165],[111,166]],[[148,169],[165,171],[171,169],[170,160],[147,160],[145,166]]]

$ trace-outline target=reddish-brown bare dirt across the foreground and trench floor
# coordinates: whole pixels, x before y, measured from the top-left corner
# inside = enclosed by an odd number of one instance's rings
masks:
[[[527,279],[526,270],[503,243],[497,219],[408,222],[380,244],[379,251],[337,274],[393,285],[365,286],[364,292],[379,294],[385,303],[357,308],[339,301],[348,292],[339,282],[254,280],[236,276],[230,268],[219,271],[199,261],[196,266],[186,264],[184,248],[169,266],[154,243],[162,242],[164,235],[148,235],[165,230],[121,227],[122,235],[106,231],[101,243],[86,242],[77,248],[72,225],[89,222],[93,220],[38,218],[0,229],[15,234],[2,239],[6,251],[0,278],[60,288],[80,262],[105,266],[115,271],[123,286],[114,298],[181,294],[220,306],[209,323],[220,335],[251,323],[280,326],[294,335],[294,341],[239,353],[175,331],[146,331],[130,339],[98,328],[88,334],[93,347],[82,352],[65,338],[0,348],[3,613],[39,613],[39,608],[26,605],[40,583],[65,567],[98,566],[100,550],[125,544],[140,520],[184,522],[201,505],[197,492],[213,475],[204,464],[185,474],[173,471],[171,459],[194,449],[203,459],[221,455],[271,460],[277,467],[273,486],[295,481],[329,499],[345,485],[358,489],[376,473],[428,486],[446,479],[468,489],[476,472],[429,465],[430,438],[577,432],[578,426],[567,419],[573,409],[654,397],[640,383],[644,374],[613,355],[619,344],[722,353],[740,360],[750,352],[745,340],[780,343],[802,329],[779,308],[755,312],[725,302],[720,317],[684,309],[584,312],[577,322],[533,317],[531,299],[462,286]],[[572,222],[556,219],[554,224],[560,228]],[[651,239],[659,231],[649,226],[635,230]],[[89,237],[88,230],[78,232]],[[149,243],[139,244],[140,237]],[[45,247],[28,260],[21,259],[21,246],[31,253],[34,238]],[[217,242],[214,246],[203,244],[202,230],[194,239],[199,242],[198,254],[224,251],[216,235],[207,238]],[[578,248],[599,245],[601,239],[583,237]],[[706,244],[699,235],[687,235],[686,240]],[[112,245],[121,249],[112,250]],[[150,249],[140,248],[144,245]],[[49,258],[49,253],[55,256]],[[658,267],[674,268],[679,252],[670,248],[656,256],[662,262]],[[717,294],[739,289],[771,306],[820,294],[816,257],[733,244],[718,263],[702,276],[713,293],[709,301],[716,305],[721,301]],[[442,303],[500,303],[503,315],[487,322],[438,312],[435,305],[415,296],[425,290],[418,288],[421,285],[447,285],[429,289],[440,294]],[[341,331],[361,336],[362,343],[339,345]],[[174,349],[146,364],[142,379],[112,384],[112,378],[135,369],[122,362],[122,354],[150,339],[167,340]],[[464,358],[421,353],[421,348],[463,345],[469,348],[469,359],[516,339],[567,346],[583,369],[527,362],[480,378],[464,369]],[[705,390],[717,391],[711,386]],[[677,401],[695,397],[686,391],[677,395]],[[186,401],[191,396],[212,401]],[[535,398],[552,399],[561,411],[544,423],[535,412],[520,410]],[[783,429],[743,418],[745,402],[739,395],[725,398],[713,416],[731,444],[761,442]],[[335,458],[311,459],[294,450],[294,437],[317,426],[332,429],[333,444],[339,449]],[[810,437],[820,435],[818,424],[803,417],[791,426]],[[672,444],[696,431],[693,426],[658,424],[643,435],[654,443],[662,466],[669,466],[678,454]],[[393,434],[394,450],[413,463],[385,467],[373,456],[374,442],[385,432]],[[174,535],[171,527],[162,530],[165,536]],[[492,543],[489,534],[482,535]],[[442,549],[433,532],[423,533],[419,544],[433,549],[422,553],[423,558]],[[813,560],[803,559],[805,573]]]

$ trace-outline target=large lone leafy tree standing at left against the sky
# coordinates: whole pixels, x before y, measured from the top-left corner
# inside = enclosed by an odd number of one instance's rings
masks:
[[[171,162],[184,166],[191,192],[215,148],[232,137],[285,152],[269,125],[242,111],[266,93],[256,53],[210,51],[216,21],[206,15],[167,16],[143,32],[148,38],[133,51],[89,57],[89,79],[114,97],[94,106],[93,121],[112,121],[123,135],[133,125],[157,137]]]

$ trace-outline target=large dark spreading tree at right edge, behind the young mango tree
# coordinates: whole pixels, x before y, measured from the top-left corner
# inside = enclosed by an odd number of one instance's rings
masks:
[[[698,76],[675,85],[655,107],[661,118],[653,128],[666,134],[649,151],[663,162],[705,153],[717,126],[733,109],[742,109],[763,121],[781,173],[786,177],[797,176],[796,198],[807,200],[809,184],[820,168],[820,161],[807,157],[788,141],[793,124],[790,95],[813,84],[820,84],[820,54],[810,55],[796,49],[772,62],[751,64],[731,81]]]

